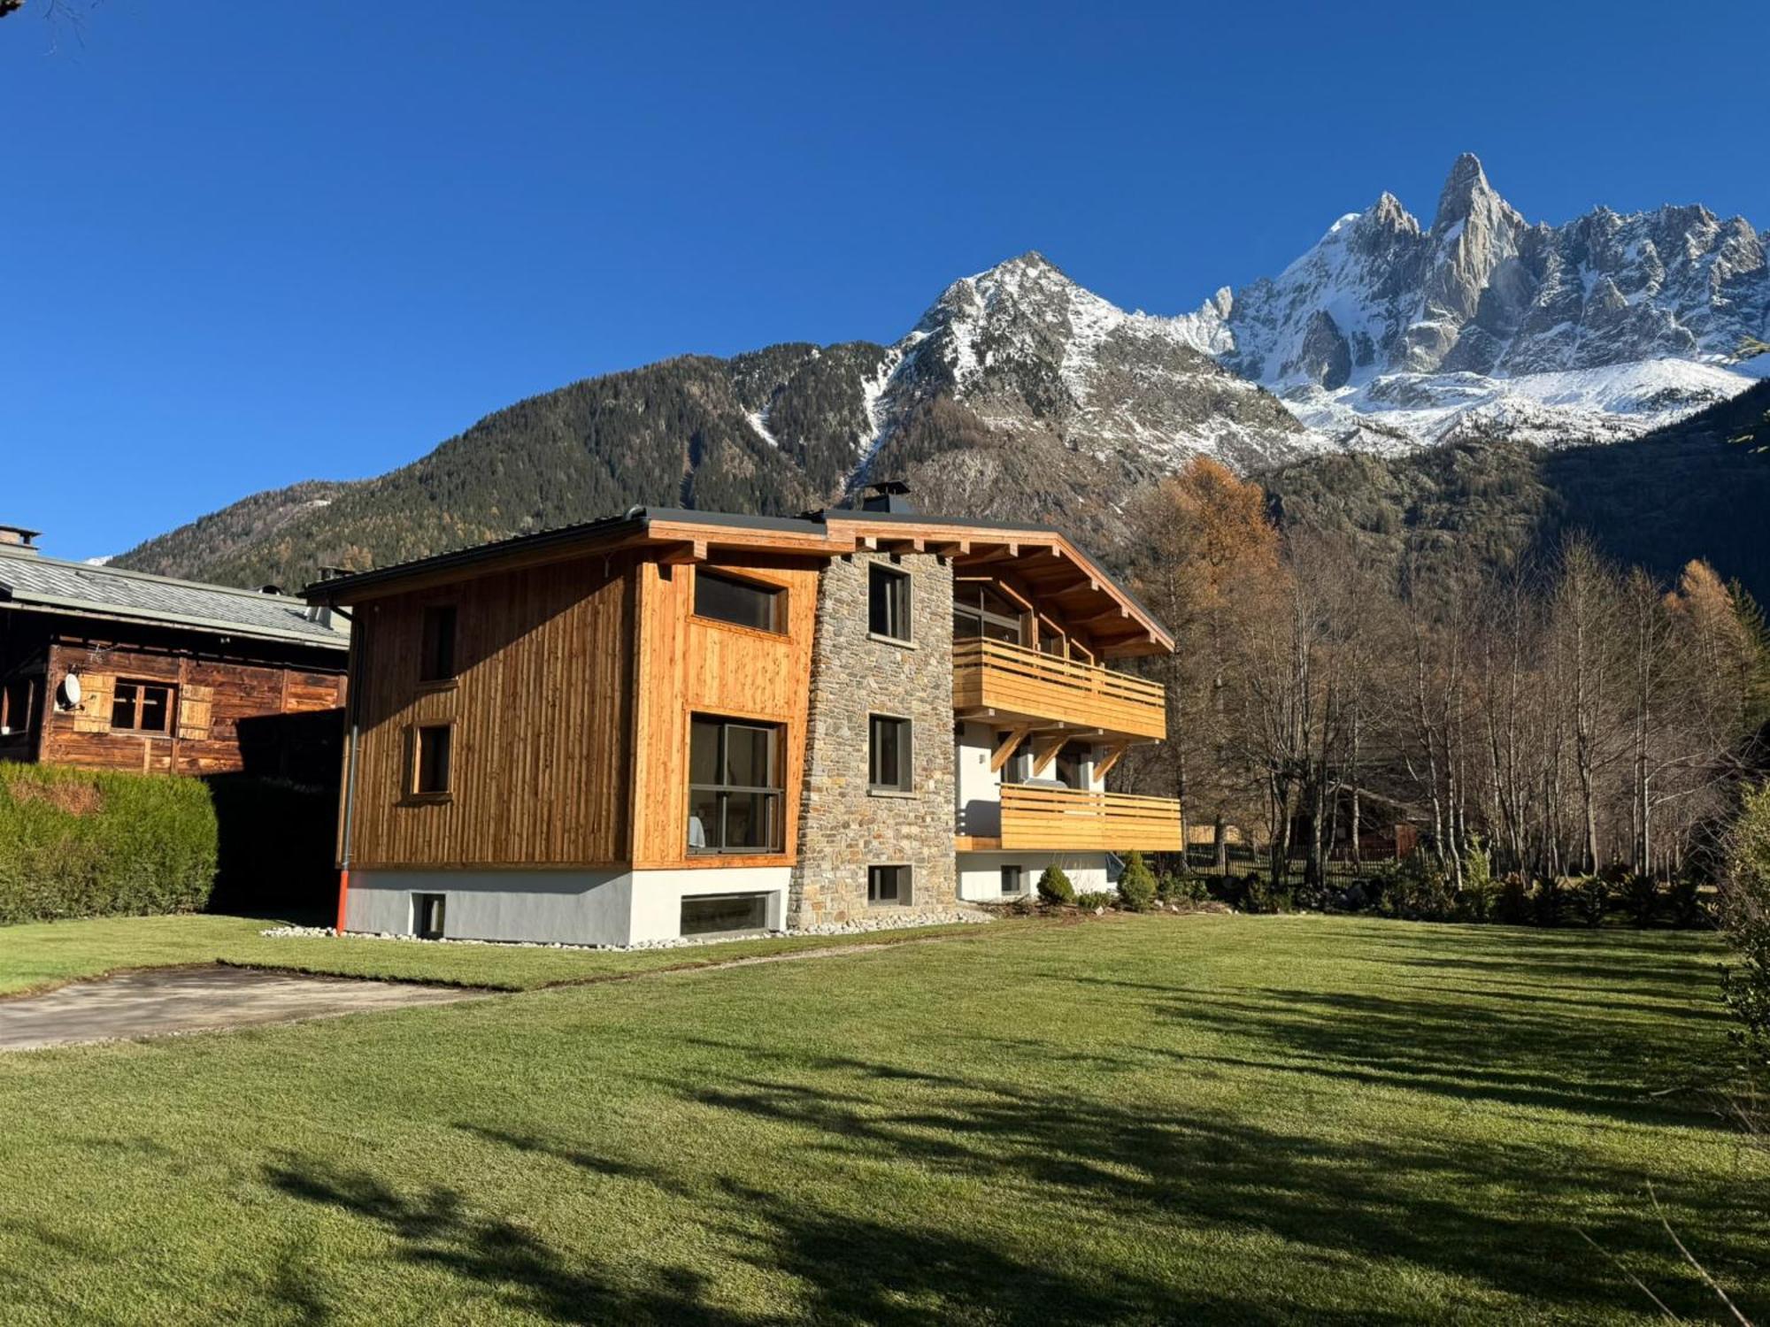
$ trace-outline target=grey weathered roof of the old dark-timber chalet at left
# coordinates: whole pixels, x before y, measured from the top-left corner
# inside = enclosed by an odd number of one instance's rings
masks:
[[[347,623],[312,621],[308,605],[273,594],[198,580],[173,580],[96,563],[44,557],[35,548],[0,545],[0,609],[177,626],[212,635],[290,640],[347,649]]]

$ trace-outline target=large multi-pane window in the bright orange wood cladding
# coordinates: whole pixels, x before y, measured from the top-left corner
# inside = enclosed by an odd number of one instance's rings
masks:
[[[781,729],[706,715],[689,727],[689,851],[779,853]]]

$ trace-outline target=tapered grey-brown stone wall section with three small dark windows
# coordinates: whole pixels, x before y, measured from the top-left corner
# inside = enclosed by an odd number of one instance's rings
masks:
[[[867,632],[867,568],[910,573],[908,646]],[[867,791],[867,715],[912,722],[912,791]],[[798,865],[789,925],[846,922],[867,906],[869,865],[908,865],[906,913],[950,908],[954,871],[952,568],[933,554],[855,554],[818,582]]]

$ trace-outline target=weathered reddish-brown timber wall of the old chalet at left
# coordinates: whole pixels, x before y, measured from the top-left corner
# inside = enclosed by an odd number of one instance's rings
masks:
[[[83,683],[81,706],[44,704],[37,759],[87,770],[216,775],[246,768],[239,725],[269,715],[301,715],[343,706],[345,679],[274,664],[235,664],[168,651],[85,642],[50,646],[46,687],[69,671]],[[177,688],[177,711],[163,734],[120,733],[110,725],[119,681]]]

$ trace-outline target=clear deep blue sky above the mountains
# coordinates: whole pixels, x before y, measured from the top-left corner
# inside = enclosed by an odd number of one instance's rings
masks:
[[[1460,150],[1533,219],[1770,226],[1751,4],[46,4],[0,21],[0,520],[69,557],[579,377],[892,340],[1028,248],[1193,308],[1382,189],[1430,219]]]

